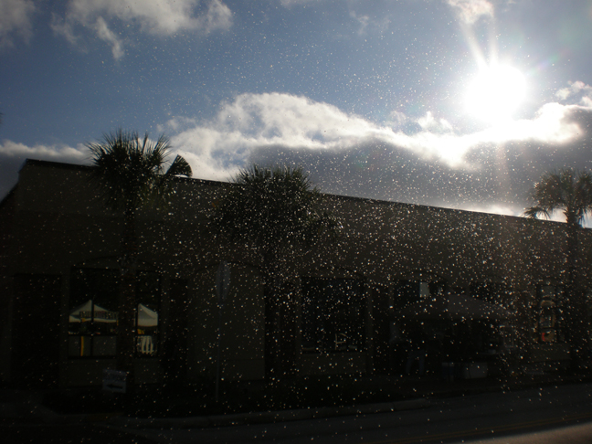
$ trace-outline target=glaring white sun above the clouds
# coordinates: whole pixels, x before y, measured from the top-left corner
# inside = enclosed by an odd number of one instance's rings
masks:
[[[525,88],[518,69],[504,65],[481,69],[467,90],[467,111],[489,123],[510,120],[524,98]]]

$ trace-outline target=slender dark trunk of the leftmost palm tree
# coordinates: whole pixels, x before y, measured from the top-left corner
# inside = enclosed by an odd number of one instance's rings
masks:
[[[133,357],[136,323],[136,259],[135,208],[128,206],[123,217],[122,280],[119,289],[119,324],[117,331],[117,368],[127,372],[129,390],[135,384]]]

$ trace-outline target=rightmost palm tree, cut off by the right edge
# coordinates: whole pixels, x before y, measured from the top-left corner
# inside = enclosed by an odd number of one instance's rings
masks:
[[[586,295],[577,279],[578,234],[584,219],[592,212],[592,174],[566,168],[547,173],[531,191],[534,206],[526,209],[527,217],[549,218],[555,211],[562,211],[567,223],[567,312],[570,328],[569,342],[574,361],[582,361],[587,353],[587,305]]]

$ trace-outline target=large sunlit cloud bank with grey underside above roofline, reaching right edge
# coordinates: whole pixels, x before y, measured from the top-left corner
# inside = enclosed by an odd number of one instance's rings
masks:
[[[162,129],[198,177],[300,164],[329,193],[518,215],[544,171],[592,166],[589,98],[570,97],[576,103],[547,103],[529,120],[460,133],[429,112],[415,121],[396,112],[379,124],[304,97],[241,94],[211,121],[174,119]]]

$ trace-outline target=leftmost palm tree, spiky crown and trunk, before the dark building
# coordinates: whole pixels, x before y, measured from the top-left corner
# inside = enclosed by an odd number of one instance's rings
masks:
[[[113,211],[123,212],[119,290],[119,323],[117,331],[117,366],[128,372],[133,384],[135,349],[135,287],[137,236],[136,215],[146,206],[166,205],[176,175],[191,176],[191,167],[177,155],[164,170],[171,147],[161,135],[156,143],[148,133],[141,139],[137,132],[121,129],[103,135],[100,143],[88,143],[91,153],[91,178],[100,187],[102,197]]]

